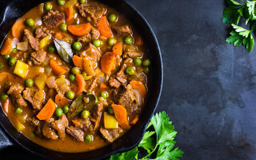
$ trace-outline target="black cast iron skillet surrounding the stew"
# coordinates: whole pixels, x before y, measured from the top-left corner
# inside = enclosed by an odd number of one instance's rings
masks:
[[[106,5],[114,7],[121,14],[124,14],[126,18],[134,24],[143,39],[148,46],[148,53],[152,61],[152,67],[150,68],[150,81],[149,81],[149,96],[146,102],[145,110],[136,125],[134,125],[130,131],[128,131],[118,141],[102,147],[98,150],[92,150],[90,152],[83,153],[62,153],[54,150],[48,150],[42,146],[38,146],[36,143],[31,142],[30,139],[19,134],[14,126],[10,123],[6,114],[0,107],[0,149],[6,146],[20,146],[30,151],[31,153],[40,155],[44,158],[50,159],[103,159],[110,157],[110,154],[116,154],[130,150],[138,145],[141,141],[142,135],[145,133],[146,126],[150,121],[151,116],[154,114],[154,110],[158,105],[158,100],[162,91],[162,58],[160,49],[158,46],[157,38],[154,35],[146,19],[142,17],[142,14],[124,0],[99,0]],[[5,38],[8,30],[13,23],[28,10],[37,6],[44,0],[13,0],[8,3],[4,10],[1,23],[0,23],[0,43]],[[2,129],[2,130],[1,130]]]

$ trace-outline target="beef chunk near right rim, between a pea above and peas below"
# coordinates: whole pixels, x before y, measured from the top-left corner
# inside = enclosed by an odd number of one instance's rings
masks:
[[[142,52],[138,51],[137,46],[124,44],[122,57],[138,58],[138,57],[142,57]]]

